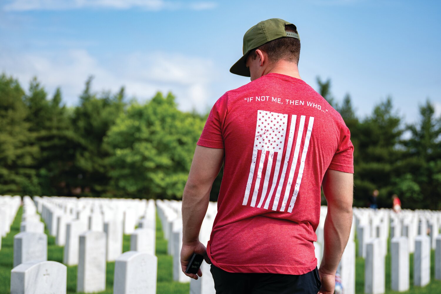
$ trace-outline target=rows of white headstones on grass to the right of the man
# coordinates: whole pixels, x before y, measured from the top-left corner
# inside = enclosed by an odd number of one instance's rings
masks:
[[[439,211],[395,213],[389,209],[354,208],[359,256],[365,258],[365,293],[385,292],[385,256],[391,236],[391,288],[409,289],[409,254],[414,253],[414,285],[430,282],[430,249],[436,249],[435,278],[441,279]],[[427,230],[427,229],[430,230]]]

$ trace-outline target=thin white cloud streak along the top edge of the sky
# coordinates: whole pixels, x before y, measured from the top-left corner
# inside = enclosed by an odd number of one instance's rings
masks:
[[[3,6],[5,11],[69,10],[81,8],[129,9],[149,11],[163,9],[207,10],[217,7],[215,2],[186,2],[170,0],[11,0]]]

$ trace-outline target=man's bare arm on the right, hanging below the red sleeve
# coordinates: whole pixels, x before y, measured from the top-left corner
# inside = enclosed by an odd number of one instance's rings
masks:
[[[348,243],[352,225],[352,198],[354,177],[352,173],[327,170],[322,188],[328,202],[324,226],[324,249],[319,274],[319,293],[334,293],[335,274],[341,255]]]

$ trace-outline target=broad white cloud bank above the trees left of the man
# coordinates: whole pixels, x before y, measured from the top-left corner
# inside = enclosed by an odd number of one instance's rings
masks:
[[[0,47],[0,56],[8,57],[0,59],[0,73],[18,78],[24,88],[37,76],[49,95],[61,87],[67,105],[78,102],[90,75],[94,76],[94,90],[116,92],[125,86],[127,95],[141,102],[158,90],[172,91],[179,109],[184,111],[206,111],[213,95],[213,62],[182,54],[136,52],[99,62],[84,49],[17,53]]]

